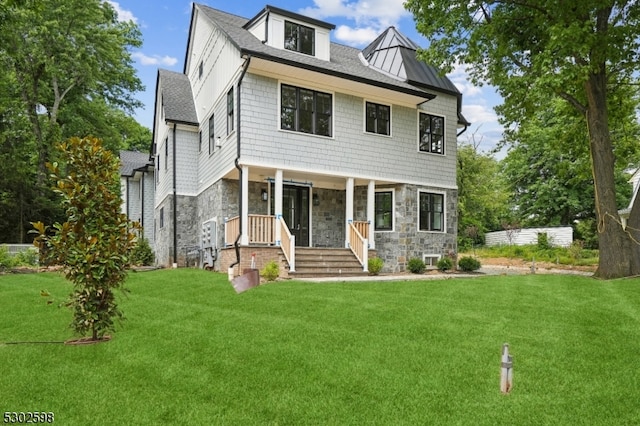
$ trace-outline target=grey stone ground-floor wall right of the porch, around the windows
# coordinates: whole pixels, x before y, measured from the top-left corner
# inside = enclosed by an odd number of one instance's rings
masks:
[[[378,187],[377,189],[380,189]],[[384,261],[384,272],[404,272],[409,259],[424,254],[446,255],[457,250],[458,192],[417,185],[394,185],[395,190],[394,230],[375,232],[378,257]],[[418,189],[445,192],[446,232],[418,231]],[[356,187],[354,191],[355,220],[366,220],[367,188]]]

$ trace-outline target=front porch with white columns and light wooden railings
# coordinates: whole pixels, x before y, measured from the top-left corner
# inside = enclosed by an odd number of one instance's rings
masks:
[[[288,272],[295,274],[301,249],[342,249],[345,258],[355,257],[361,272],[368,271],[370,251],[375,250],[376,182],[258,166],[241,169],[241,174],[232,171],[226,176],[239,182],[240,215],[224,218],[222,250],[236,245],[277,247],[282,250]],[[314,255],[320,258],[324,254]],[[245,257],[240,256],[241,264],[250,261]],[[310,257],[305,257],[305,267]],[[225,264],[221,259],[222,270]],[[337,272],[341,270],[340,266],[336,268]]]

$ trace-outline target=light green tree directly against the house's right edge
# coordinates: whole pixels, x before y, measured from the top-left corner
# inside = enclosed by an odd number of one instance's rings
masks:
[[[458,145],[458,246],[481,243],[488,231],[500,229],[508,215],[508,193],[500,174],[500,163],[479,152],[477,144]]]

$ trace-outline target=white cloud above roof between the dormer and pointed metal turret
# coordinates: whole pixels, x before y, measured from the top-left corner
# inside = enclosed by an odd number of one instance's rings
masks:
[[[298,12],[316,19],[340,17],[352,20],[354,25],[341,25],[335,37],[346,44],[364,45],[386,28],[398,26],[401,19],[411,16],[403,3],[404,0],[314,0],[315,7]]]

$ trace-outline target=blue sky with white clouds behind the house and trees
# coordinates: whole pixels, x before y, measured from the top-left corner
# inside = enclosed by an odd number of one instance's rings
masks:
[[[245,18],[252,18],[265,5],[301,13],[336,26],[334,42],[363,48],[387,27],[393,25],[420,46],[427,40],[416,29],[413,17],[402,6],[404,0],[208,0],[200,3]],[[191,1],[187,0],[119,0],[109,1],[118,11],[119,19],[133,20],[142,31],[143,45],[132,51],[138,77],[145,91],[137,94],[144,108],[135,112],[138,122],[153,125],[153,104],[158,68],[181,72],[187,47]],[[489,86],[472,86],[459,67],[449,74],[463,94],[462,112],[473,125],[463,134],[462,141],[475,141],[487,151],[497,143],[502,128],[493,107],[500,102]]]

